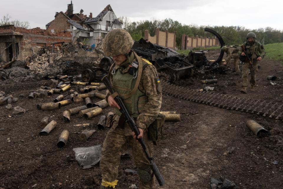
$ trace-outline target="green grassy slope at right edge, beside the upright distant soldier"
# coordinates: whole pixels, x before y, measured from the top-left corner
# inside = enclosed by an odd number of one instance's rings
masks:
[[[272,43],[264,45],[266,51],[265,58],[271,58],[274,60],[279,60],[283,63],[283,43]]]

